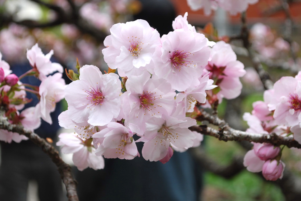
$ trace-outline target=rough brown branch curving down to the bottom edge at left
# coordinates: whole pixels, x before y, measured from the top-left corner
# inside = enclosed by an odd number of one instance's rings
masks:
[[[4,109],[0,109],[0,129],[5,129],[11,132],[17,132],[20,135],[28,137],[36,145],[40,146],[42,150],[51,158],[51,160],[58,167],[58,171],[61,175],[61,178],[66,186],[67,197],[69,201],[78,201],[77,192],[76,192],[76,181],[73,179],[71,173],[71,167],[66,164],[60,157],[58,151],[49,144],[45,139],[40,138],[36,133],[24,129],[21,125],[15,125],[8,122],[7,118],[4,117]]]

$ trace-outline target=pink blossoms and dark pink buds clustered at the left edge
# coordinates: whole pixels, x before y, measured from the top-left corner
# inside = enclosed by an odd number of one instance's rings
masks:
[[[52,63],[50,58],[53,54],[51,50],[44,55],[38,44],[27,50],[26,56],[32,67],[31,70],[21,75],[19,78],[11,74],[10,66],[2,61],[0,53],[0,100],[5,116],[12,124],[22,124],[25,129],[33,131],[39,128],[41,118],[48,123],[52,123],[50,113],[55,110],[56,103],[64,98],[65,81],[62,78],[63,67],[58,63]],[[51,73],[54,75],[50,75]],[[25,76],[36,76],[41,81],[40,86],[23,84],[21,81]],[[39,103],[35,107],[22,110],[24,105],[30,100],[26,99],[26,91],[34,93],[39,98]],[[5,142],[20,142],[27,139],[18,133],[1,130],[0,140]]]

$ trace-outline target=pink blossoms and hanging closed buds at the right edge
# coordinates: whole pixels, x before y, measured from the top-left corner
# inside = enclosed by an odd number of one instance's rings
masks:
[[[264,101],[253,104],[252,115],[244,114],[252,133],[276,133],[277,135],[293,135],[301,143],[301,72],[296,77],[282,77],[273,89],[266,90]],[[282,178],[284,163],[281,152],[284,147],[271,144],[254,143],[247,152],[244,165],[251,172],[262,171],[267,180]]]

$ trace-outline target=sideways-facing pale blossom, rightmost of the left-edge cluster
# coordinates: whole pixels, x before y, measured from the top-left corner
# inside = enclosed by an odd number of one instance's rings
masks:
[[[55,110],[56,103],[64,98],[65,81],[61,73],[49,75],[42,80],[39,87],[40,102],[36,105],[36,114],[52,124],[50,113]]]

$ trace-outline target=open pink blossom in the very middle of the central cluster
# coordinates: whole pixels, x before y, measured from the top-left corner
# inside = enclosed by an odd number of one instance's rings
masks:
[[[162,78],[150,78],[148,72],[129,77],[126,89],[121,95],[124,123],[138,135],[143,135],[145,122],[151,117],[171,114],[175,109],[175,91],[171,85]]]

